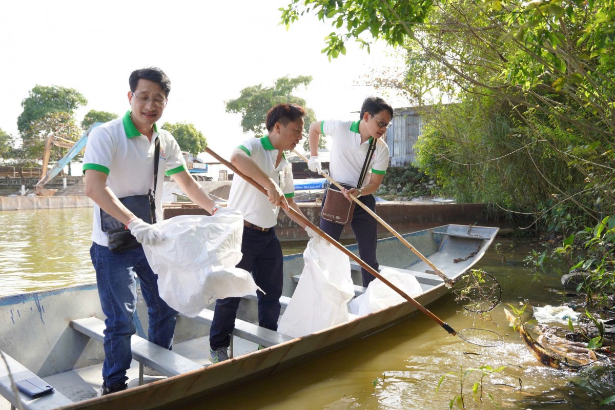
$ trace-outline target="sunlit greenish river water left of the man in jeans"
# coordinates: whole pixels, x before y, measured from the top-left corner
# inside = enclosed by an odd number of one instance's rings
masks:
[[[0,211],[0,296],[96,280],[92,208]]]

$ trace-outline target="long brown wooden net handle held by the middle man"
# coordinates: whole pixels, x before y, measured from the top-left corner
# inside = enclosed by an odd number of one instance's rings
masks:
[[[210,149],[210,148],[205,148],[205,152],[207,152],[207,154],[210,154],[210,156],[212,156],[215,159],[217,159],[218,161],[220,161],[221,164],[226,165],[226,167],[228,167],[230,170],[232,170],[236,175],[239,175],[241,178],[244,178],[248,183],[252,184],[253,187],[255,187],[259,191],[263,192],[263,194],[267,195],[267,190],[263,186],[261,186],[261,184],[257,183],[254,179],[250,178],[249,176],[244,175],[234,165],[232,165],[231,162],[225,160],[223,157],[221,157],[218,154],[216,154],[215,152],[213,152],[212,149]],[[425,315],[427,315],[427,317],[429,317],[432,320],[434,320],[435,323],[438,323],[438,325],[442,326],[442,328],[444,328],[448,333],[453,334],[453,335],[457,334],[457,332],[453,328],[451,328],[451,326],[448,325],[448,323],[445,323],[442,320],[440,320],[440,318],[438,318],[436,315],[434,315],[434,313],[430,312],[429,310],[426,309],[426,307],[421,305],[415,299],[411,298],[410,295],[408,295],[407,293],[402,291],[400,288],[398,288],[397,286],[393,285],[391,282],[389,282],[384,277],[382,277],[378,272],[376,272],[375,269],[373,269],[373,267],[371,267],[367,263],[363,262],[362,259],[359,258],[359,256],[357,256],[354,253],[352,253],[351,251],[347,250],[346,248],[344,248],[343,245],[341,245],[341,243],[337,242],[335,239],[331,238],[325,232],[321,231],[319,227],[315,226],[311,221],[309,221],[307,218],[305,218],[305,216],[303,216],[303,214],[301,212],[296,211],[295,208],[293,208],[293,207],[288,207],[288,209],[298,219],[300,219],[300,221],[302,221],[304,224],[309,226],[314,232],[319,234],[323,239],[327,240],[327,242],[331,243],[331,245],[333,245],[336,248],[338,248],[339,250],[341,250],[349,258],[354,259],[354,261],[357,262],[363,269],[367,270],[368,272],[370,272],[370,274],[374,275],[376,278],[378,278],[379,280],[384,282],[387,286],[389,286],[389,288],[391,288],[395,292],[399,293],[400,296],[402,296],[402,298],[406,299],[408,302],[413,304],[416,307],[416,309],[421,310],[421,312],[423,312]]]

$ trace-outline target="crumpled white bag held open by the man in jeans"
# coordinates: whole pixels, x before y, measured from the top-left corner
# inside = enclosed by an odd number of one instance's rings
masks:
[[[241,260],[244,218],[238,211],[213,216],[182,215],[157,223],[166,239],[144,245],[149,266],[158,275],[161,298],[189,317],[216,299],[256,291]]]

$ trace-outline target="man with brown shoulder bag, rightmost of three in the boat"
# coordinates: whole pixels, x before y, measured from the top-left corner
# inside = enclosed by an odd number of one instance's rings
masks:
[[[353,186],[352,189],[342,189],[348,200],[352,194],[372,211],[376,211],[376,199],[372,195],[378,191],[384,174],[389,167],[389,147],[381,139],[391,125],[393,109],[391,105],[379,97],[367,97],[363,101],[359,121],[326,120],[312,122],[309,127],[310,157],[308,167],[312,172],[322,171],[318,158],[318,143],[320,135],[331,136],[331,152],[329,159],[329,175],[340,184]],[[365,163],[368,147],[375,139],[376,149],[368,163],[368,172],[362,186],[357,186],[359,176]],[[323,197],[324,205],[326,198]],[[359,255],[373,269],[378,270],[376,259],[376,229],[378,221],[362,207],[355,206],[351,221]],[[339,240],[344,225],[327,221],[320,217],[320,229],[330,237]],[[363,286],[375,279],[367,270],[361,269]]]

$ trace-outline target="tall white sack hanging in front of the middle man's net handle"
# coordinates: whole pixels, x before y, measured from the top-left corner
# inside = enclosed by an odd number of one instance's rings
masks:
[[[320,237],[303,253],[305,266],[278,331],[300,337],[350,319],[348,301],[354,296],[348,257]]]

